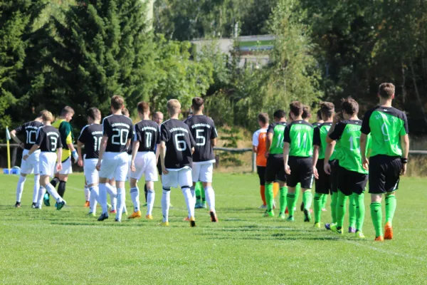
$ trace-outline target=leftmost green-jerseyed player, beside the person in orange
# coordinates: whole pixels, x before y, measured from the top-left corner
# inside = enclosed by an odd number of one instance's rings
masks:
[[[265,141],[265,157],[267,157],[267,167],[265,167],[265,201],[267,210],[264,217],[274,217],[273,212],[273,182],[278,180],[280,187],[280,219],[285,219],[286,187],[285,166],[283,164],[283,135],[286,127],[286,113],[284,110],[276,110],[274,123],[267,129],[267,140]]]

